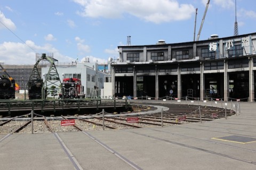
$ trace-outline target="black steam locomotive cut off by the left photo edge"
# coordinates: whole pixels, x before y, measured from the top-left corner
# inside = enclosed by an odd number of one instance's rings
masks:
[[[0,76],[0,99],[15,98],[15,81],[6,77]]]

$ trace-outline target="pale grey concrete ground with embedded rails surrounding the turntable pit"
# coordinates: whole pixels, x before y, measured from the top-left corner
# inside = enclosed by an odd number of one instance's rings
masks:
[[[256,169],[255,103],[199,104],[237,115],[163,128],[0,134],[0,169]]]

